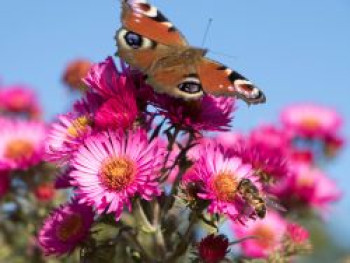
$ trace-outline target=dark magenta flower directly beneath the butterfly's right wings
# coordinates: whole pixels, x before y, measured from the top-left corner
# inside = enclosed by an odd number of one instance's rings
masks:
[[[195,101],[155,95],[151,102],[158,112],[174,125],[196,131],[227,131],[230,128],[235,100],[225,97],[203,96]]]

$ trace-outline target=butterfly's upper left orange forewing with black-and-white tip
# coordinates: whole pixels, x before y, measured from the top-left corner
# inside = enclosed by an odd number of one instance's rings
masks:
[[[123,0],[122,24],[127,30],[164,45],[188,45],[174,25],[145,0]]]

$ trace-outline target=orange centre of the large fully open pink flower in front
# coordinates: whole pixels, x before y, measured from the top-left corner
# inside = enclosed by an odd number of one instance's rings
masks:
[[[135,173],[133,161],[126,157],[113,157],[104,162],[101,177],[109,189],[121,191],[133,181]]]

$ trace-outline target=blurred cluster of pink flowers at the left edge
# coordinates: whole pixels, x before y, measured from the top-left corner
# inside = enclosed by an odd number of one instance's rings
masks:
[[[28,182],[29,178],[21,176],[42,165],[47,127],[37,119],[41,110],[35,93],[24,86],[1,87],[0,108],[1,196],[4,196],[10,191],[11,181]]]

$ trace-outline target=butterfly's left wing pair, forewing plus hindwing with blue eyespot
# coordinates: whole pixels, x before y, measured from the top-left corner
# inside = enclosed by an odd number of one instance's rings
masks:
[[[122,0],[122,26],[116,34],[118,55],[145,74],[187,46],[181,33],[145,0]]]

